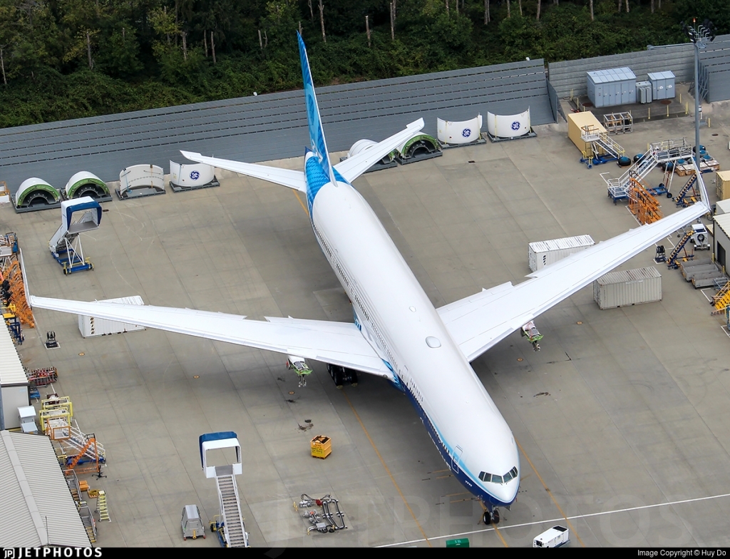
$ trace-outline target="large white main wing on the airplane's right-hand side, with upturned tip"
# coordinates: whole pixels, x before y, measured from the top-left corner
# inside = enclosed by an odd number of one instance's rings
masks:
[[[511,282],[463,298],[438,309],[464,356],[473,361],[542,312],[647,249],[677,229],[710,211],[702,201],[649,225],[631,229],[529,274],[526,282]]]

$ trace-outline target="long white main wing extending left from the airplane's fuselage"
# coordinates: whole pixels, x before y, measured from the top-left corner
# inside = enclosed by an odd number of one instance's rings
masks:
[[[356,325],[327,320],[266,317],[245,320],[223,312],[129,305],[110,302],[66,301],[31,296],[31,307],[70,312],[107,320],[158,328],[219,342],[300,355],[395,380]]]

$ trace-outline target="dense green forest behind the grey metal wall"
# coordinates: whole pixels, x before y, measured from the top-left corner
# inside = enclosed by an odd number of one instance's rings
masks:
[[[728,0],[0,0],[0,127],[730,32]]]

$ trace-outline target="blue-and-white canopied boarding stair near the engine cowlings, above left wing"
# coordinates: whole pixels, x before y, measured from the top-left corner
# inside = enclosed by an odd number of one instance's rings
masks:
[[[93,270],[91,261],[84,257],[79,235],[99,228],[99,223],[101,205],[91,196],[61,202],[61,225],[48,242],[48,249],[53,258],[64,266],[64,274]]]

